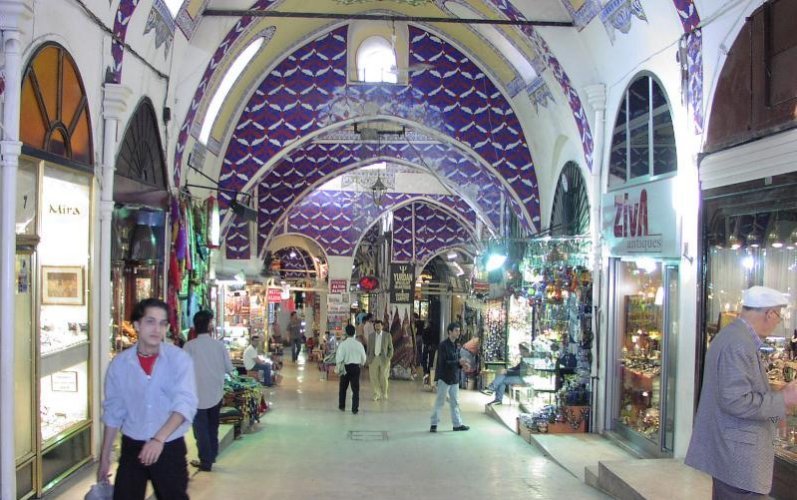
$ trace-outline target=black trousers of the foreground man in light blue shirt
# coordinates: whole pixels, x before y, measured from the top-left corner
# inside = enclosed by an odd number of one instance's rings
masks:
[[[163,500],[188,500],[188,464],[185,440],[178,438],[163,445],[158,461],[141,464],[138,454],[144,441],[122,436],[122,454],[114,481],[114,500],[144,500],[147,481],[152,481],[155,496]]]

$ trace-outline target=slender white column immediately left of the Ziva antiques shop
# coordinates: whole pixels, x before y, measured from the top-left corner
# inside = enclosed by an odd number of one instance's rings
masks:
[[[589,182],[590,191],[590,235],[592,236],[592,250],[593,250],[593,271],[592,271],[592,332],[598,335],[601,327],[601,316],[603,313],[601,301],[602,282],[601,277],[605,270],[603,269],[603,256],[602,256],[602,239],[601,239],[601,195],[603,194],[603,150],[606,136],[606,86],[602,83],[589,85],[584,88],[587,95],[587,102],[595,112],[595,120],[593,122],[594,131],[592,138],[594,141],[594,150],[592,152],[592,175]],[[597,340],[593,345],[608,345],[607,342]],[[598,353],[599,355],[601,353]],[[592,401],[594,401],[592,408],[592,422],[590,429],[595,429],[600,432],[603,430],[605,420],[605,412],[611,405],[607,404],[605,399],[609,394],[606,390],[608,380],[604,377],[601,381],[601,373],[598,373],[598,357],[593,356],[592,362],[592,379],[597,383],[592,384]],[[603,366],[607,366],[607,360],[603,360]],[[604,371],[604,374],[608,372]]]

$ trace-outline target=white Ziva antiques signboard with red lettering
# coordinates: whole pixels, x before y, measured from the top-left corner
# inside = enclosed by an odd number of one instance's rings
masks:
[[[602,231],[614,256],[680,257],[675,178],[603,195]]]

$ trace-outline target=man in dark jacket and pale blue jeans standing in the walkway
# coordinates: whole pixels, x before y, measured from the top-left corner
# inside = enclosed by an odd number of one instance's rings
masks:
[[[450,323],[446,329],[448,338],[440,343],[437,348],[437,366],[435,367],[435,381],[437,382],[437,399],[434,402],[432,412],[432,426],[429,432],[437,432],[437,423],[440,421],[440,410],[446,402],[448,394],[449,404],[451,405],[451,423],[454,424],[455,431],[466,431],[470,429],[462,423],[459,414],[459,369],[468,370],[469,366],[465,360],[459,359],[459,348],[456,340],[459,338],[459,323]]]

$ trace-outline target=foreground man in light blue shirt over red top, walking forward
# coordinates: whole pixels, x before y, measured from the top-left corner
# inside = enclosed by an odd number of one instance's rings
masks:
[[[97,481],[108,481],[111,449],[121,431],[115,500],[142,500],[147,481],[159,499],[188,499],[183,436],[196,413],[196,379],[191,357],[163,342],[168,313],[169,307],[158,299],[136,304],[131,322],[138,342],[118,354],[105,374]]]

